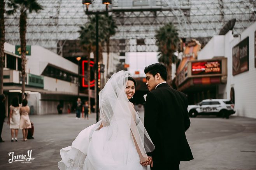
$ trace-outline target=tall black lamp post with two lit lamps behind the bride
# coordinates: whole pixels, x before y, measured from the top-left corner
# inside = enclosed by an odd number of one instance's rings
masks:
[[[98,32],[98,15],[100,14],[108,14],[108,5],[112,3],[111,0],[102,0],[102,3],[106,5],[106,11],[103,12],[91,12],[88,11],[89,5],[92,3],[91,0],[82,0],[82,4],[86,5],[86,14],[87,15],[95,15],[96,19],[96,65],[99,65],[99,32]],[[99,80],[99,67],[98,69],[95,69],[96,71],[96,122],[99,121],[99,87],[100,87],[100,80]]]

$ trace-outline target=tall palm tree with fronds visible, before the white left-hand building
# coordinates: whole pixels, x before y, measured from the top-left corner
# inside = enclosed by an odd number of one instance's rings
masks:
[[[39,12],[43,7],[37,0],[8,0],[7,5],[10,10],[7,14],[14,14],[19,11],[19,38],[21,41],[21,75],[22,75],[22,98],[25,92],[25,76],[26,76],[26,29],[28,13]]]

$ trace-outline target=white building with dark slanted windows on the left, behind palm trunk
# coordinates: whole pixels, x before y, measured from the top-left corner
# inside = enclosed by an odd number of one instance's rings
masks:
[[[6,108],[14,97],[21,101],[21,57],[19,46],[5,43],[4,93]],[[67,112],[77,98],[77,65],[41,46],[28,46],[26,91],[32,114],[57,113],[57,105]],[[32,92],[32,93],[31,93]],[[79,94],[86,98],[86,94]],[[8,110],[7,110],[8,111]],[[8,114],[8,112],[6,113]]]

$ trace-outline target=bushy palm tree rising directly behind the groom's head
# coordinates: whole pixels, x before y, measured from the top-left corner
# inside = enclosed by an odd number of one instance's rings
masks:
[[[158,61],[167,67],[167,83],[172,84],[172,63],[177,60],[174,52],[177,50],[179,37],[177,29],[170,22],[156,31],[156,45],[158,46]]]

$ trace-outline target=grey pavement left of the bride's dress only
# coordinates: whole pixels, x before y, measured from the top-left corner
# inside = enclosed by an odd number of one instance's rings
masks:
[[[30,120],[34,123],[35,139],[22,142],[22,131],[19,130],[17,143],[11,143],[11,130],[5,122],[2,132],[5,142],[0,143],[1,170],[58,169],[57,163],[61,160],[60,149],[70,146],[82,129],[95,124],[96,114],[89,115],[89,120],[76,120],[75,114],[30,115]],[[14,152],[14,155],[25,155],[29,149],[32,149],[32,157],[35,158],[32,163],[8,162],[11,158],[8,156],[9,152]]]

